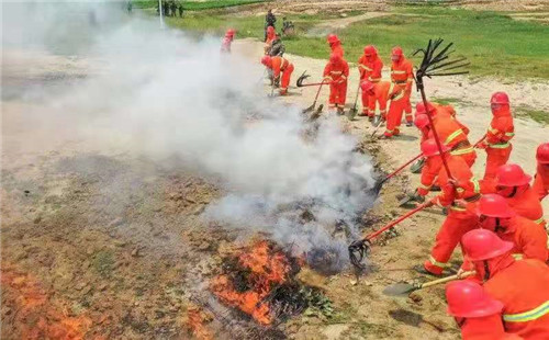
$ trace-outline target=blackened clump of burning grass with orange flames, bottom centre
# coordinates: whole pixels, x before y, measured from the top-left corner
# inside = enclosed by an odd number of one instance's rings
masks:
[[[210,290],[225,304],[262,326],[273,326],[301,314],[321,293],[295,275],[304,261],[267,240],[232,253]]]

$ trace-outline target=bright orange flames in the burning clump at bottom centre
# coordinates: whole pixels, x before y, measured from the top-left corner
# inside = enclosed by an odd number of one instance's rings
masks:
[[[212,292],[224,303],[250,315],[261,325],[270,325],[269,303],[264,298],[271,290],[287,281],[290,272],[288,258],[274,251],[269,242],[261,240],[245,249],[237,258],[238,264],[249,271],[246,284],[249,290],[238,292],[227,274],[221,274],[211,282]]]

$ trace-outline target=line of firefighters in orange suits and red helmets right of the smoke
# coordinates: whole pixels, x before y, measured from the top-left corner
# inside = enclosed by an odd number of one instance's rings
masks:
[[[327,43],[332,53],[323,83],[329,84],[329,107],[343,113],[349,66],[339,38],[330,34]],[[533,181],[520,166],[507,163],[515,132],[506,93],[492,95],[492,122],[485,135],[471,144],[469,128],[451,105],[421,102],[414,114],[413,66],[401,47],[391,52],[390,81],[382,80],[383,61],[377,48],[368,45],[363,52],[358,60],[361,115],[378,124],[386,122],[384,138],[400,134],[404,113],[406,125],[415,124],[422,135],[424,166],[421,184],[408,199],[447,212],[429,258],[414,269],[442,275],[460,245],[463,264],[458,275],[463,280],[448,284],[446,296],[462,338],[549,339],[549,250],[540,203],[549,193],[549,143],[537,148]],[[288,93],[293,65],[269,55],[261,63],[272,71],[274,84],[280,82],[280,94]],[[477,149],[486,152],[482,179],[471,170]],[[432,191],[439,193],[426,201]]]

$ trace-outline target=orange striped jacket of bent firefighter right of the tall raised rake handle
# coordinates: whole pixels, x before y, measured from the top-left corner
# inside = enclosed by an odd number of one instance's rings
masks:
[[[477,159],[477,152],[467,137],[469,128],[447,112],[440,112],[446,109],[437,109],[439,112],[433,118],[433,125],[438,134],[438,138],[441,144],[450,148],[450,155],[460,156],[469,167],[472,167]],[[433,137],[433,132],[429,131],[428,138]]]

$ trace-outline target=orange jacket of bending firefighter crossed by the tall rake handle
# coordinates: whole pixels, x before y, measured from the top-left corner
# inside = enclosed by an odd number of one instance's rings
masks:
[[[460,207],[453,204],[455,200],[466,200],[474,202],[480,197],[480,184],[474,179],[471,169],[459,156],[446,155],[448,168],[450,168],[451,175],[459,183],[459,188],[455,189],[448,185],[448,174],[442,166],[442,159],[439,156],[428,157],[425,166],[422,169],[422,184],[417,189],[417,193],[425,196],[433,185],[435,179],[438,177],[438,183],[441,184],[442,192],[437,195],[434,201],[442,206],[449,206],[450,212],[457,213],[458,216],[469,216],[474,204],[471,206]]]

